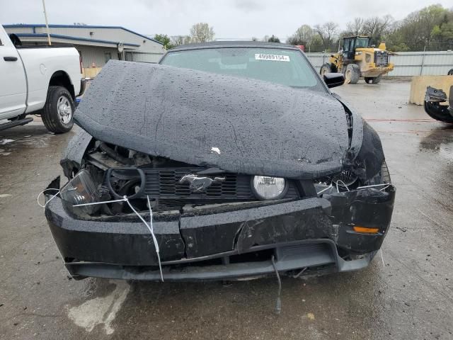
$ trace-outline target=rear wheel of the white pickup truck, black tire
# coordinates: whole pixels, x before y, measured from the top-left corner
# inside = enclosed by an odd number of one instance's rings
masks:
[[[63,86],[49,86],[41,115],[47,130],[54,133],[68,132],[74,125],[73,114],[74,101],[69,91]]]

